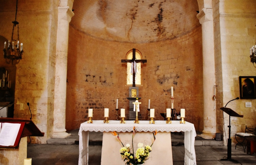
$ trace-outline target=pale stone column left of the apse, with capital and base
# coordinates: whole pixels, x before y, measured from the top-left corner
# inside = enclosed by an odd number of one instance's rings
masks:
[[[68,6],[58,7],[58,30],[56,41],[55,87],[54,87],[54,121],[53,138],[65,138],[66,132],[66,82],[69,22],[74,13]]]

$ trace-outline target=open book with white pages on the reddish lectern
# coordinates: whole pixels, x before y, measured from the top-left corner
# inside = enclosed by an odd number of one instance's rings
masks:
[[[0,123],[0,145],[13,146],[17,138],[20,123]]]

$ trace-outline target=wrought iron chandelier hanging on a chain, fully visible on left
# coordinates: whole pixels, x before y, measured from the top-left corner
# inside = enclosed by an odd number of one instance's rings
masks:
[[[19,39],[19,22],[16,21],[17,17],[17,11],[18,11],[18,0],[16,0],[16,13],[15,13],[15,20],[12,21],[13,23],[13,29],[12,29],[12,39],[11,42],[8,41],[8,47],[6,49],[6,42],[4,43],[4,58],[6,59],[6,62],[9,64],[11,61],[13,63],[14,60],[17,60],[19,62],[22,59],[22,53],[23,50],[23,43],[20,44]],[[13,39],[13,33],[14,28],[17,26],[17,39]],[[9,61],[7,61],[9,59]]]

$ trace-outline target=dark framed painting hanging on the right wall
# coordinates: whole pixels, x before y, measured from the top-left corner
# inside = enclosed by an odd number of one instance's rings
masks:
[[[240,98],[256,98],[256,76],[239,76]]]

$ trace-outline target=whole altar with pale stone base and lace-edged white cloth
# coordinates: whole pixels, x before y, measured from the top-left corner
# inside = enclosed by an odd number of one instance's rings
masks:
[[[158,164],[161,164],[161,161],[167,161],[164,159],[165,157],[169,157],[171,161],[169,164],[172,164],[172,153],[171,153],[171,139],[170,139],[170,132],[184,132],[184,147],[185,147],[185,157],[184,157],[184,164],[186,165],[196,165],[196,154],[195,154],[195,137],[196,137],[196,131],[194,124],[186,122],[185,124],[180,124],[180,121],[172,121],[171,124],[166,124],[166,121],[155,121],[155,124],[149,124],[149,121],[140,121],[140,124],[134,124],[133,121],[126,121],[125,124],[120,124],[120,121],[109,121],[108,124],[103,123],[103,121],[93,121],[93,123],[88,124],[87,122],[82,123],[80,125],[79,130],[79,165],[88,165],[88,140],[89,140],[89,132],[90,131],[101,131],[103,132],[103,141],[102,141],[102,160],[101,164],[107,164],[106,158],[109,160],[112,160],[112,164],[116,161],[122,161],[122,164],[124,165],[125,162],[123,159],[121,159],[121,154],[119,153],[119,150],[121,149],[121,145],[118,142],[118,139],[116,136],[110,135],[111,131],[116,132],[126,132],[126,137],[132,140],[132,133],[133,132],[133,126],[136,126],[136,133],[142,133],[138,137],[143,141],[143,143],[147,143],[144,145],[151,145],[150,139],[147,138],[147,136],[152,136],[153,134],[150,133],[149,135],[143,134],[147,132],[153,132],[157,130],[156,140],[158,139],[158,142],[153,144],[152,146],[152,152],[150,152],[150,157],[147,161],[145,161],[146,164],[150,165],[150,163],[153,163],[157,160]],[[123,138],[121,140],[124,140],[124,145],[126,144],[126,141],[128,142],[127,138],[124,138],[125,133],[120,134],[120,138]],[[144,138],[144,139],[143,139]],[[161,138],[169,138],[167,142],[164,142],[164,140],[161,140]],[[146,141],[145,141],[146,139]],[[148,139],[148,140],[147,140]],[[154,139],[154,138],[153,138]],[[150,143],[150,144],[149,144]],[[161,144],[164,143],[165,145]],[[131,142],[130,142],[131,144]],[[109,147],[112,146],[110,149]],[[163,149],[164,148],[164,149]],[[116,150],[115,153],[108,152],[109,150]],[[162,152],[161,152],[162,149]],[[155,151],[155,152],[154,152]],[[161,152],[161,153],[159,153]],[[161,154],[161,157],[154,157],[156,154]],[[163,158],[163,159],[162,159]],[[118,163],[117,163],[118,164]],[[166,163],[164,163],[166,164]]]

